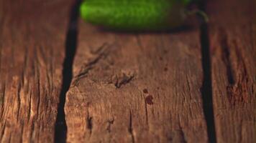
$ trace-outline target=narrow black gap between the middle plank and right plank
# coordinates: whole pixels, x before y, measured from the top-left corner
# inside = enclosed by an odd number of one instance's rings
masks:
[[[206,3],[201,1],[198,4],[199,9],[205,11]],[[212,97],[212,86],[211,86],[211,54],[210,54],[210,42],[209,42],[209,31],[208,24],[201,24],[200,29],[201,39],[201,63],[203,67],[203,83],[201,86],[201,95],[203,100],[204,117],[206,119],[207,134],[209,142],[216,142],[216,131],[214,122],[214,107]]]

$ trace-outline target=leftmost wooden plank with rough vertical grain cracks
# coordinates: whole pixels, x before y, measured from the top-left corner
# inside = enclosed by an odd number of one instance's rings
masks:
[[[69,9],[1,0],[0,142],[54,142]]]

